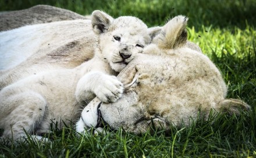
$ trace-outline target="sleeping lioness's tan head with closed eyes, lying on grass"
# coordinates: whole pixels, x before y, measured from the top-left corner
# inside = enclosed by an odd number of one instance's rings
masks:
[[[187,47],[187,20],[177,16],[163,26],[144,54],[118,75],[126,87],[122,97],[114,103],[93,99],[81,113],[78,132],[101,129],[104,120],[113,129],[139,133],[152,122],[164,129],[189,125],[200,111],[207,118],[211,110],[239,114],[239,109],[250,109],[240,99],[226,99],[227,87],[215,64]]]

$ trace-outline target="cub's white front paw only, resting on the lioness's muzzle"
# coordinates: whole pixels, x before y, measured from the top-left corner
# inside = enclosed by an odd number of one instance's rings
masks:
[[[123,84],[115,76],[102,74],[94,87],[94,94],[102,102],[116,102],[123,94]]]

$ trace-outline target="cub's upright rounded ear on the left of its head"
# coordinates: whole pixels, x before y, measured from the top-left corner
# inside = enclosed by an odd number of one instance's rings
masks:
[[[113,17],[108,14],[101,12],[100,10],[95,10],[91,14],[91,24],[93,26],[93,31],[95,34],[102,34],[108,30],[109,26],[113,22]]]

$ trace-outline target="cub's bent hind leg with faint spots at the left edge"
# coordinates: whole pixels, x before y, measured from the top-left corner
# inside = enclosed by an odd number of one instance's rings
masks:
[[[26,137],[33,134],[44,119],[47,103],[33,91],[6,87],[0,92],[0,128],[3,138]]]

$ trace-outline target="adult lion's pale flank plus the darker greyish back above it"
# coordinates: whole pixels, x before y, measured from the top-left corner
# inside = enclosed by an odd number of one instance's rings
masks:
[[[1,14],[0,31],[10,31],[0,33],[0,89],[31,74],[74,68],[93,58],[91,21],[76,19],[87,18],[47,5]]]

